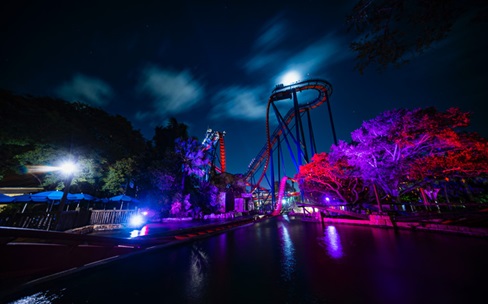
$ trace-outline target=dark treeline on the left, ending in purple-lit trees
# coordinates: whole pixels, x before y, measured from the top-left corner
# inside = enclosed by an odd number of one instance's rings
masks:
[[[181,215],[216,211],[211,200],[219,188],[243,191],[230,186],[235,179],[229,174],[214,175],[212,182],[194,174],[192,167],[208,160],[190,153],[198,151],[198,141],[175,118],[157,126],[153,138],[146,140],[120,115],[79,102],[0,91],[0,121],[0,183],[29,173],[39,180],[38,186],[61,190],[59,172],[40,172],[37,166],[72,160],[80,172],[70,192],[97,197],[124,193],[166,212],[175,203],[184,205],[186,197],[188,206],[180,208]]]

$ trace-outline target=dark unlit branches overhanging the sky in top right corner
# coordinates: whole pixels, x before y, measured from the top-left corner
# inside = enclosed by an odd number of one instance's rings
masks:
[[[359,34],[350,45],[356,69],[399,67],[445,39],[462,18],[468,25],[486,22],[487,11],[482,0],[360,0],[347,17],[349,30]]]

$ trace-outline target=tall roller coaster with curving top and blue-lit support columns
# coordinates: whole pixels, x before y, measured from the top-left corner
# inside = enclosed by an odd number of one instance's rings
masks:
[[[316,92],[318,95],[311,98],[304,98],[305,102],[299,102],[297,93]],[[321,79],[311,79],[296,82],[290,85],[277,85],[268,100],[266,107],[266,144],[251,161],[245,179],[250,185],[250,192],[255,196],[264,193],[264,201],[271,200],[273,209],[281,210],[283,192],[286,180],[290,177],[286,175],[285,154],[283,143],[288,150],[288,156],[291,159],[295,173],[298,172],[302,164],[310,161],[311,157],[317,153],[317,145],[312,128],[312,118],[310,111],[326,103],[329,114],[330,126],[334,144],[337,144],[337,137],[332,119],[330,107],[330,95],[332,94],[332,85]],[[292,100],[293,106],[288,110],[285,116],[280,113],[278,102]],[[283,108],[283,107],[281,107]],[[270,132],[270,110],[273,109],[278,126]],[[306,125],[302,120],[306,118]],[[307,136],[305,136],[307,134]],[[308,143],[307,143],[308,140]],[[269,168],[269,170],[268,170]],[[280,191],[278,196],[275,195],[275,177],[280,180]],[[267,186],[261,185],[263,180],[267,181]],[[276,203],[276,201],[278,201]]]

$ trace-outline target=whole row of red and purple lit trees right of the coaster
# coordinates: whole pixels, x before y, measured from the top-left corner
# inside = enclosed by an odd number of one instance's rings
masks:
[[[378,185],[384,198],[400,202],[401,196],[420,187],[442,187],[445,196],[452,195],[445,181],[456,181],[465,184],[457,193],[472,196],[475,191],[466,190],[467,182],[488,177],[488,145],[477,134],[460,131],[467,126],[469,113],[457,108],[386,111],[352,132],[350,143],[341,141],[329,155],[317,154],[302,166],[300,187],[351,202],[365,195],[362,183]],[[355,179],[357,183],[344,183]]]

